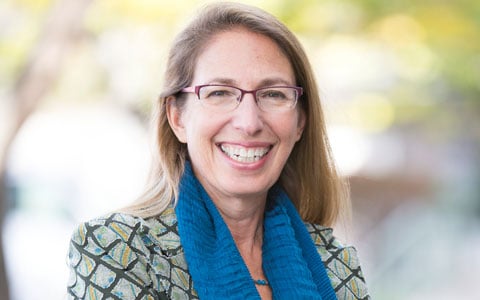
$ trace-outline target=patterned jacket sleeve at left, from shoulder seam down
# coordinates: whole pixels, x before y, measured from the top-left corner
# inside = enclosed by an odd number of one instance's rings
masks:
[[[68,299],[162,299],[153,288],[139,230],[139,224],[113,218],[78,226],[67,258]]]

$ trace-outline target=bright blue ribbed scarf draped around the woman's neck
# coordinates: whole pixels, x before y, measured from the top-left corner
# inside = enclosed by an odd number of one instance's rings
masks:
[[[189,162],[175,210],[200,299],[260,299],[227,225]],[[263,226],[263,271],[274,299],[337,299],[310,234],[278,186],[269,193]]]

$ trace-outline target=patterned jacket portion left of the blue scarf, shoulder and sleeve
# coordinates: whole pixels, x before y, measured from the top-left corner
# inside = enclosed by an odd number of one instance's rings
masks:
[[[70,296],[163,299],[167,293],[189,291],[189,282],[172,283],[172,261],[178,268],[186,266],[176,223],[173,210],[167,209],[151,218],[112,213],[79,224],[67,259]]]

